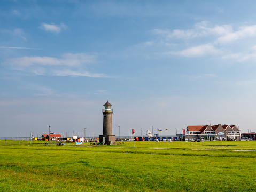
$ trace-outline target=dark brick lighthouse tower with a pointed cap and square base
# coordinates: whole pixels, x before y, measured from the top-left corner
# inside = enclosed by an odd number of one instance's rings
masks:
[[[112,114],[113,109],[111,109],[111,104],[107,101],[104,105],[104,109],[102,109],[103,113],[103,135],[99,136],[99,142],[103,142],[104,144],[114,144],[115,143],[115,135],[112,135]]]

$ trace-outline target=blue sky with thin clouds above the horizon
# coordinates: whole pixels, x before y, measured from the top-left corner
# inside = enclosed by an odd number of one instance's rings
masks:
[[[1,1],[0,137],[41,136],[49,126],[102,135],[107,101],[117,136],[210,122],[256,131],[255,7]]]

